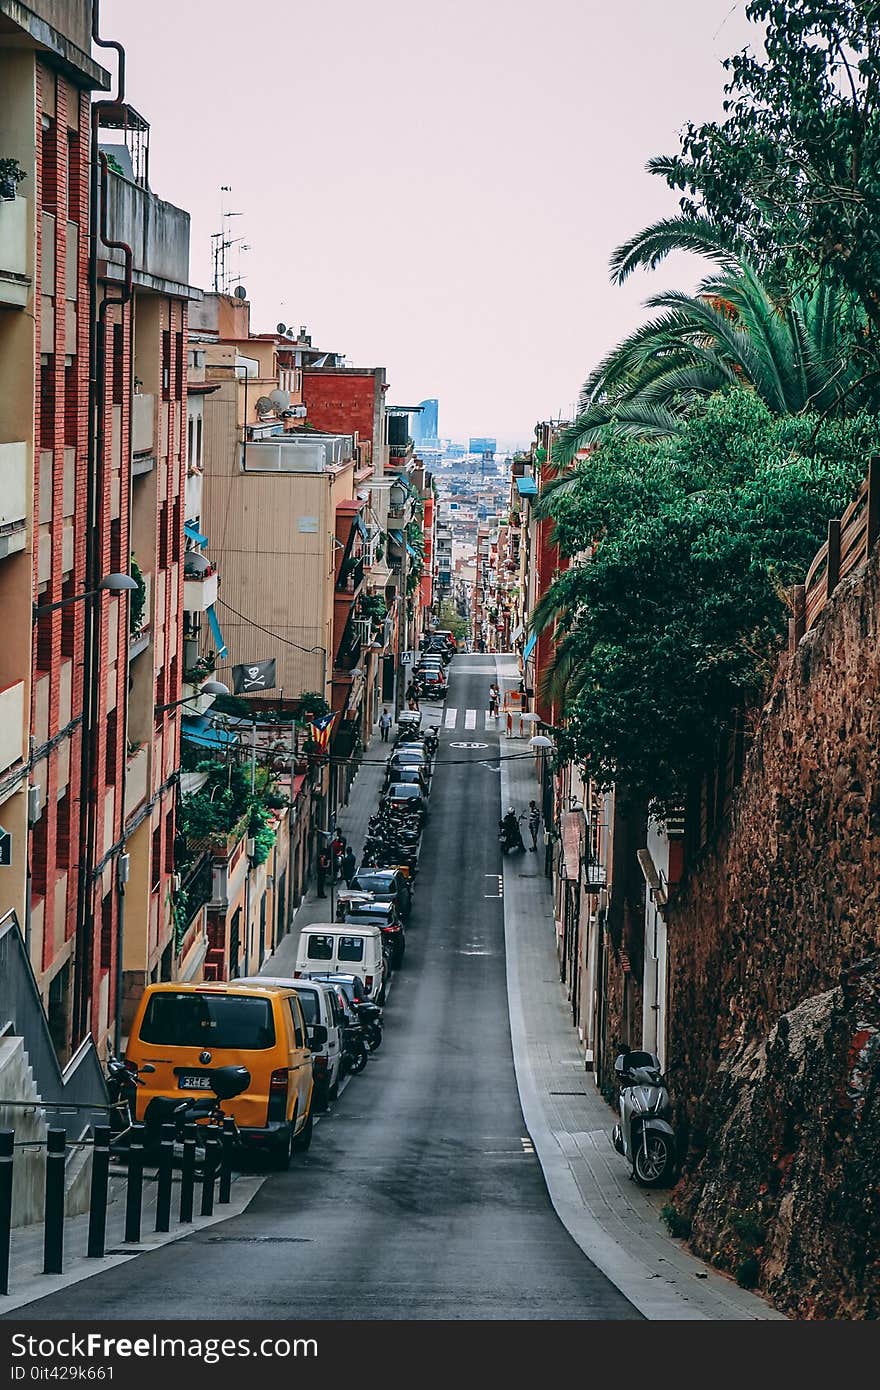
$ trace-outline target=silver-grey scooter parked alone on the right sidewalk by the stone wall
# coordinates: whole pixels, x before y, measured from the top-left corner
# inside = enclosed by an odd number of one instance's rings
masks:
[[[660,1061],[653,1052],[621,1052],[614,1062],[620,1120],[612,1143],[630,1161],[641,1187],[667,1187],[676,1172],[676,1131]]]

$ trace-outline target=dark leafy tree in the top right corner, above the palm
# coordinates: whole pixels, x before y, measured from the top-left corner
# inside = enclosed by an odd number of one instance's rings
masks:
[[[724,67],[724,118],[648,168],[777,284],[831,271],[880,327],[880,3],[751,0],[765,54]]]

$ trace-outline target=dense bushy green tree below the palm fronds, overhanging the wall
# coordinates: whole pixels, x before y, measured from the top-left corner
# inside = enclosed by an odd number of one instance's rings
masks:
[[[773,669],[787,587],[880,443],[872,416],[772,416],[710,398],[667,441],[610,438],[551,505],[573,557],[535,610],[560,639],[560,752],[601,784],[680,799]]]

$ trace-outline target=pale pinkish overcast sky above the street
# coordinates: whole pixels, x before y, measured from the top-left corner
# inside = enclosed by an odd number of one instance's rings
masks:
[[[608,260],[677,210],[645,163],[720,114],[720,61],[758,38],[742,0],[104,0],[101,31],[192,282],[225,197],[256,331],[304,324],[385,366],[392,403],[437,396],[442,436],[502,446],[695,284],[683,256],[617,288]]]

